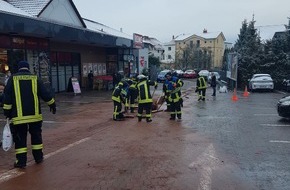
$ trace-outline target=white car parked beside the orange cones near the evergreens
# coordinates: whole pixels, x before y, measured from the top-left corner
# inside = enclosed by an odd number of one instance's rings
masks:
[[[249,80],[249,90],[274,90],[274,82],[269,74],[254,74]]]

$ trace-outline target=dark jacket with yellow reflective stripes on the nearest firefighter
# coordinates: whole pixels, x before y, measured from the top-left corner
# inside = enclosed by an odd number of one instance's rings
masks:
[[[4,90],[3,109],[14,125],[42,121],[39,97],[48,105],[55,103],[52,93],[28,70],[12,75]]]

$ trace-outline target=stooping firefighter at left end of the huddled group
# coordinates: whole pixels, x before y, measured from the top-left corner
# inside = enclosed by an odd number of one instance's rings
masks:
[[[114,102],[114,112],[113,112],[113,120],[115,121],[123,121],[124,115],[122,113],[122,103],[125,104],[126,102],[126,83],[119,82],[118,85],[115,87],[112,93],[112,100]]]

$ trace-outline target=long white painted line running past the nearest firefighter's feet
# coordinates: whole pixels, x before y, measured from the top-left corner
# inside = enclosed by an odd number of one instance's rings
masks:
[[[85,141],[88,141],[90,139],[91,139],[91,137],[87,137],[87,138],[84,138],[82,140],[76,141],[76,142],[74,142],[72,144],[69,144],[69,145],[67,145],[67,146],[65,146],[65,147],[63,147],[61,149],[58,149],[57,151],[54,151],[54,152],[51,152],[51,153],[45,155],[44,159],[48,159],[51,156],[54,156],[54,155],[56,155],[58,153],[61,153],[61,152],[65,151],[65,150],[67,150],[69,148],[72,148],[72,147],[74,147],[74,146],[76,146],[78,144],[81,144],[81,143],[83,143]],[[27,166],[31,166],[33,164],[34,164],[34,161],[30,161],[30,162],[27,163]],[[5,173],[0,175],[0,184],[5,182],[5,181],[8,181],[10,179],[16,178],[16,177],[18,177],[18,176],[20,176],[22,174],[25,174],[25,170],[24,169],[14,168],[12,170],[9,170],[9,171],[7,171],[7,172],[5,172]]]

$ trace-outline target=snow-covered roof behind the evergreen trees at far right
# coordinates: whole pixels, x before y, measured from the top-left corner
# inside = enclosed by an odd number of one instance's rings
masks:
[[[271,40],[274,37],[276,32],[286,31],[284,24],[257,26],[256,28],[257,28],[257,33],[261,38],[261,41]]]

